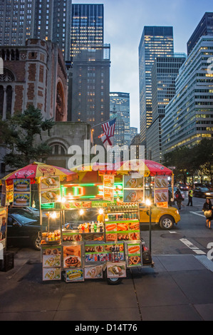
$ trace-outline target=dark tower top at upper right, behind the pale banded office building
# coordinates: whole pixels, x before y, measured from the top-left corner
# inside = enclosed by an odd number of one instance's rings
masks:
[[[187,43],[187,53],[189,56],[189,53],[192,52],[192,49],[199,41],[199,38],[201,36],[211,36],[213,35],[213,12],[205,13],[202,17],[201,21],[197,25],[197,28],[194,30],[194,33],[192,33],[192,36],[189,38],[189,41]]]

